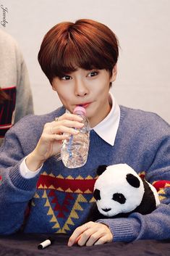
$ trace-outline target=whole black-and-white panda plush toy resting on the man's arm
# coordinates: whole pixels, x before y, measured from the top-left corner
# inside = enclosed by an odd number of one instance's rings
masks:
[[[127,164],[101,165],[97,173],[88,220],[127,217],[132,212],[145,215],[160,204],[155,187]]]

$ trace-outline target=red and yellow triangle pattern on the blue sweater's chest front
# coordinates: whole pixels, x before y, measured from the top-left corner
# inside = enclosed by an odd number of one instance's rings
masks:
[[[75,226],[87,204],[94,202],[93,187],[96,178],[55,177],[44,172],[38,179],[38,192],[34,195],[32,207],[36,207],[36,201],[43,199],[53,232],[69,233],[69,226]]]

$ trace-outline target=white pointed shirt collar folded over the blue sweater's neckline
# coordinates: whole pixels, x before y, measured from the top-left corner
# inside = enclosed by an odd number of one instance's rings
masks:
[[[111,111],[101,121],[101,123],[98,123],[98,125],[93,127],[93,130],[101,137],[101,139],[109,143],[111,146],[114,146],[116,133],[119,127],[120,107],[111,92],[109,93],[109,102],[111,102],[112,105]]]

